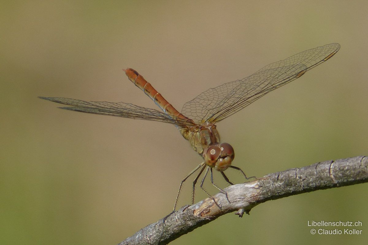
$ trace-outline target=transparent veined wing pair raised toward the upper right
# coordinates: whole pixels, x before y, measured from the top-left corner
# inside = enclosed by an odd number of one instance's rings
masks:
[[[339,49],[340,44],[331,43],[269,64],[247,78],[204,91],[185,103],[181,113],[199,124],[219,122],[270,91],[299,78],[331,58]]]

